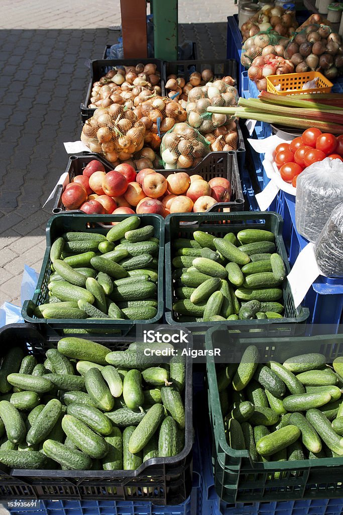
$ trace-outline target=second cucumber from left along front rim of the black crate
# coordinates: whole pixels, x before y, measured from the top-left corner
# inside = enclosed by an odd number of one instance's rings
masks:
[[[67,470],[89,470],[92,467],[92,460],[87,454],[69,449],[63,443],[49,439],[43,443],[44,454],[57,461]]]

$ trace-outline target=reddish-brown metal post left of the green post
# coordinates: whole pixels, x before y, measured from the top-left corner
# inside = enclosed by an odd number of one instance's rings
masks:
[[[148,57],[146,0],[120,0],[125,59]]]

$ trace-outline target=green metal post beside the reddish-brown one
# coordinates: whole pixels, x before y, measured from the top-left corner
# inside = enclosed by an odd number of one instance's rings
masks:
[[[178,0],[151,0],[154,13],[155,58],[165,61],[177,60],[178,45]]]

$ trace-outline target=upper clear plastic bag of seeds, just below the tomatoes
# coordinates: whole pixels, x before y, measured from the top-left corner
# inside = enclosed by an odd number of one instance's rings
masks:
[[[315,242],[337,204],[343,199],[343,162],[326,158],[306,168],[297,179],[297,231]]]

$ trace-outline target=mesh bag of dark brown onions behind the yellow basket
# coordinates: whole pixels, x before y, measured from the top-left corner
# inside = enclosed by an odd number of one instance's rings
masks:
[[[330,80],[343,71],[341,43],[341,36],[328,25],[310,24],[295,33],[284,57],[293,63],[296,73],[317,71]]]

